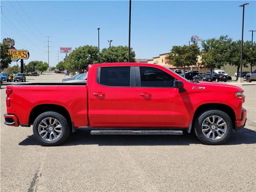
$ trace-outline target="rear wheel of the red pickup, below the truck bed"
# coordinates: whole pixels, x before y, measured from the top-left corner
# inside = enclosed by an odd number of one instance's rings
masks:
[[[35,119],[33,133],[42,145],[56,146],[68,138],[70,124],[62,114],[48,111],[40,114]]]

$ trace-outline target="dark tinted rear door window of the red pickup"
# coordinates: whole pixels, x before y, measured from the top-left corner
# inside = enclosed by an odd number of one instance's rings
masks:
[[[105,86],[130,86],[130,67],[101,67],[100,84]]]

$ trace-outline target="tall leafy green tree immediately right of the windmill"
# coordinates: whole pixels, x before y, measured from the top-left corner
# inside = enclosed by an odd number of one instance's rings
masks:
[[[230,61],[230,46],[232,38],[220,36],[202,41],[202,64],[212,70],[220,69]]]

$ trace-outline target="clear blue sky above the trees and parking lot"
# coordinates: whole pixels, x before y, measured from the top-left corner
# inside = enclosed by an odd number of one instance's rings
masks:
[[[251,40],[248,30],[256,30],[256,1],[133,0],[131,47],[136,58],[152,58],[174,45],[188,44],[194,34],[203,39],[227,34],[238,40],[242,28],[238,6],[245,2],[250,5],[245,7],[244,40]],[[113,46],[128,45],[127,0],[1,1],[1,5],[1,41],[10,37],[16,49],[28,49],[26,63],[47,61],[44,36],[50,36],[50,66],[56,66],[60,46],[98,46],[98,27],[100,48],[108,47],[110,39]]]

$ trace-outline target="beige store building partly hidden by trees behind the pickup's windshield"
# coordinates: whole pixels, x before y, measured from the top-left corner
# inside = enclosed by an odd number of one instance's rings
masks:
[[[148,59],[148,63],[155,63],[155,64],[160,64],[162,66],[168,67],[172,70],[175,69],[181,69],[172,65],[168,65],[168,59],[166,58],[166,56],[170,54],[170,52],[168,53],[163,53],[163,54],[159,54],[159,56],[157,57],[153,57],[152,59]],[[201,63],[201,56],[198,56],[198,64],[196,66],[188,66],[187,70],[198,70],[201,73],[206,72],[206,68],[200,65]],[[199,66],[199,68],[198,68]]]

